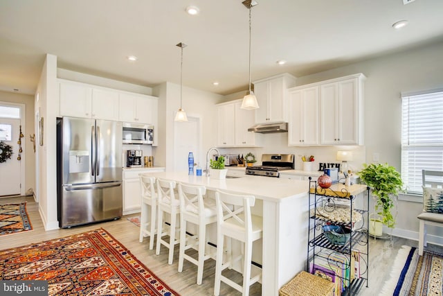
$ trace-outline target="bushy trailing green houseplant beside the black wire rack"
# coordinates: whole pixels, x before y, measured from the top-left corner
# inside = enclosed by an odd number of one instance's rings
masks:
[[[395,205],[395,198],[403,189],[400,173],[388,164],[363,164],[363,169],[357,175],[370,186],[372,195],[377,197],[375,211],[381,217],[383,225],[394,228],[395,218],[391,209]]]

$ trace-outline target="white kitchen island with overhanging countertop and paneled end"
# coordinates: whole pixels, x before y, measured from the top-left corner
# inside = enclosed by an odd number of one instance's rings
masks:
[[[224,180],[217,180],[188,175],[188,172],[153,172],[150,175],[206,186],[208,197],[217,189],[255,195],[252,211],[263,217],[263,238],[260,246],[253,247],[253,261],[262,264],[262,295],[278,295],[281,286],[306,269],[309,181],[256,175],[228,175]],[[331,189],[336,190],[336,186],[339,190],[338,186],[344,185],[334,184]],[[345,187],[352,195],[366,189],[365,185]]]

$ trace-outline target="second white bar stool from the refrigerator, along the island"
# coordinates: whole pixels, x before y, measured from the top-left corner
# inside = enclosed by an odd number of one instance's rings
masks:
[[[169,249],[168,264],[172,264],[174,257],[174,245],[180,241],[175,239],[177,229],[177,215],[180,214],[180,201],[176,198],[175,181],[157,178],[157,194],[159,195],[159,212],[157,220],[157,245],[155,254],[160,254],[160,245]],[[169,231],[163,232],[163,213],[170,214]],[[163,240],[163,236],[169,235],[169,242]]]

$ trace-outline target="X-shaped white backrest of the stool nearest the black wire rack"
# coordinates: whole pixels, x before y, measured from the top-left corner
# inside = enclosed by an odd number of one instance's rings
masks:
[[[243,227],[246,236],[252,233],[251,207],[255,204],[255,196],[238,195],[217,190],[217,227],[224,227],[228,221],[230,225]],[[247,237],[246,237],[247,238]]]

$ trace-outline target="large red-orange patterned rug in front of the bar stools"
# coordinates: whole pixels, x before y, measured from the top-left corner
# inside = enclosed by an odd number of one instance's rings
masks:
[[[179,295],[105,229],[0,251],[2,280],[46,280],[48,295]]]

